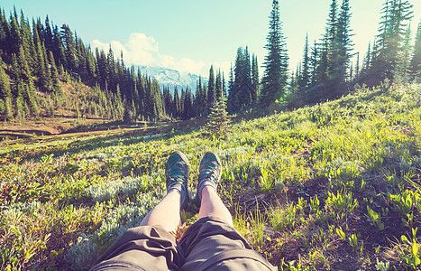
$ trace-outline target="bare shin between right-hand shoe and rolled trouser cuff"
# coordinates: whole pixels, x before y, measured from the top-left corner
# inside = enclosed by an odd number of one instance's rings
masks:
[[[224,220],[233,227],[233,218],[230,211],[226,209],[224,202],[216,194],[215,189],[209,185],[202,189],[202,201],[197,220],[205,217],[215,217]]]

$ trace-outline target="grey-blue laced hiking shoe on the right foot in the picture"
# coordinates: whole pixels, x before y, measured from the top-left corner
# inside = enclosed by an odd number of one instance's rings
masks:
[[[197,182],[197,193],[195,197],[195,203],[197,207],[200,207],[202,201],[202,190],[206,185],[216,188],[218,182],[221,179],[222,164],[219,157],[211,152],[207,152],[199,165],[199,177]]]

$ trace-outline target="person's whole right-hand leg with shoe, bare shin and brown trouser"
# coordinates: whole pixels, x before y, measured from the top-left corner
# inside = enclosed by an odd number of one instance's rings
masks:
[[[233,219],[216,194],[222,164],[216,154],[206,153],[200,162],[196,204],[197,221],[180,240],[186,261],[184,270],[277,270],[233,229]]]

